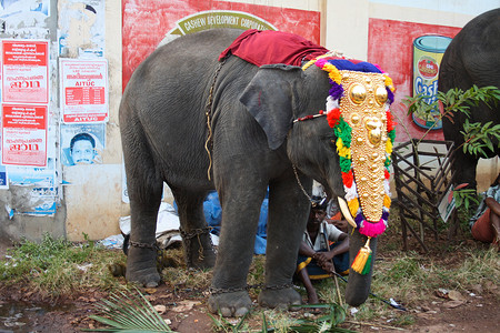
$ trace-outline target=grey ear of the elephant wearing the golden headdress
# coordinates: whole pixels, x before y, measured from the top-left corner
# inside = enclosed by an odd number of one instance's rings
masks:
[[[292,125],[296,84],[301,75],[300,67],[262,65],[240,97],[240,102],[264,130],[272,150],[283,143]]]

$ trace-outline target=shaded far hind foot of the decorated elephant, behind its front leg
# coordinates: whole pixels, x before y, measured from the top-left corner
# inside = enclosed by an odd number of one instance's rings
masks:
[[[188,233],[181,231],[184,258],[190,269],[211,269],[216,265],[210,229],[196,229]]]

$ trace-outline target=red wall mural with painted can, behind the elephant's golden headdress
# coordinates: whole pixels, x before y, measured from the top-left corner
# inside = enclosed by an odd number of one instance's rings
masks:
[[[391,74],[398,88],[391,108],[397,122],[403,121],[412,138],[422,138],[432,120],[407,115],[400,105],[406,97],[418,92],[436,94],[438,87],[439,63],[451,38],[461,28],[403,22],[393,20],[370,19],[368,36],[368,61],[378,63]],[[444,140],[438,125],[426,139]],[[398,124],[396,130],[398,142],[407,141],[406,131]]]

